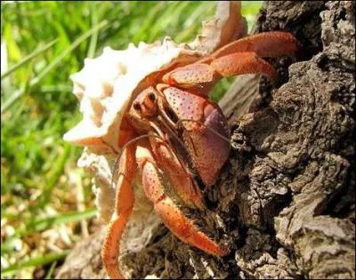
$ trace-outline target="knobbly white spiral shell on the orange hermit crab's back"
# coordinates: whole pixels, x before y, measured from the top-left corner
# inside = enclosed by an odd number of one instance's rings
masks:
[[[214,20],[204,22],[203,35],[190,44],[175,44],[166,37],[163,43],[129,44],[123,51],[106,47],[98,58],[85,59],[84,68],[71,76],[83,120],[63,139],[97,153],[117,150],[118,128],[135,96],[158,83],[165,69],[191,63],[231,42],[236,29],[245,32],[246,28],[237,28],[244,26],[236,22],[243,21],[237,16],[239,9],[239,3],[218,4]]]

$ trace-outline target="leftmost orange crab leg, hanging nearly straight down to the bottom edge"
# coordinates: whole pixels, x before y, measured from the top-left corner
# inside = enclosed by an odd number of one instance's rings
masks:
[[[134,148],[134,145],[125,148],[120,158],[115,212],[101,250],[103,265],[111,279],[125,279],[118,267],[117,257],[120,253],[121,236],[134,207],[134,190],[131,187],[136,170]]]

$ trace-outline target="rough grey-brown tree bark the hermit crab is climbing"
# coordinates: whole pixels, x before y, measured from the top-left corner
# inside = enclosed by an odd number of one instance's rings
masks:
[[[277,83],[245,76],[226,94],[230,160],[206,189],[209,211],[187,209],[231,253],[214,258],[160,226],[121,258],[127,275],[355,277],[354,12],[351,1],[263,4],[255,32],[292,32],[301,52],[271,60]],[[102,236],[78,244],[57,277],[102,278]]]

